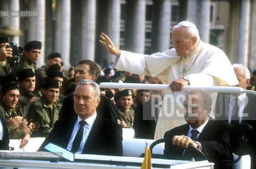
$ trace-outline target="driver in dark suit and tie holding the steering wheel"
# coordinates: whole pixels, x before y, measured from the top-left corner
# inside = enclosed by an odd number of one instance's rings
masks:
[[[191,144],[199,148],[208,161],[215,163],[215,168],[232,167],[231,164],[218,163],[233,160],[229,139],[232,125],[209,118],[211,103],[211,96],[204,90],[192,90],[187,95],[183,105],[186,108],[184,118],[188,124],[175,127],[164,134],[164,138],[173,138],[172,143],[165,143],[165,155],[170,155],[171,158],[186,156],[188,151],[184,149]]]

